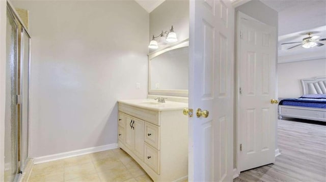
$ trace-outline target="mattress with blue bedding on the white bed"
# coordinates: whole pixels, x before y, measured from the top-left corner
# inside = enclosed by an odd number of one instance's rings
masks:
[[[326,108],[326,94],[303,95],[300,98],[286,98],[280,105]]]

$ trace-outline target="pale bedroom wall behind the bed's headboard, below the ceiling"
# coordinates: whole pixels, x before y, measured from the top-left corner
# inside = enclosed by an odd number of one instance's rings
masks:
[[[279,63],[279,97],[297,98],[302,96],[300,80],[320,76],[326,76],[326,59]]]

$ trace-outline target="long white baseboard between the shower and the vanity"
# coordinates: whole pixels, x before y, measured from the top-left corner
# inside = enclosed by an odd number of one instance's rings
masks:
[[[70,152],[64,152],[64,153],[53,154],[53,155],[48,155],[48,156],[36,157],[36,158],[34,158],[34,164],[56,161],[56,160],[65,159],[68,157],[75,157],[75,156],[80,156],[80,155],[84,155],[84,154],[90,154],[90,153],[101,152],[101,151],[117,149],[117,148],[118,148],[118,143],[111,143],[111,144],[101,145],[98,147],[91,147],[91,148],[87,148],[87,149],[80,149],[80,150],[76,150],[76,151],[70,151]]]

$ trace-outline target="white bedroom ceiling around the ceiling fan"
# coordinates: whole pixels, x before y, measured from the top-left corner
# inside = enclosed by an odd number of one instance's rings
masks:
[[[308,37],[307,32],[326,38],[326,1],[315,0],[260,0],[268,7],[279,12],[279,50],[278,60],[282,62],[303,61],[326,58],[325,46],[305,49],[302,46],[287,50],[290,44],[282,43],[300,42]]]

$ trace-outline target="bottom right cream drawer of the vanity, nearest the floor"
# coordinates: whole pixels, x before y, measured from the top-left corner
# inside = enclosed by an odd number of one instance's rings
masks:
[[[144,162],[159,174],[159,151],[145,143]]]

